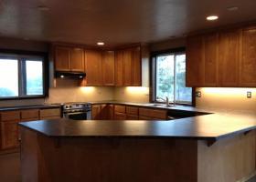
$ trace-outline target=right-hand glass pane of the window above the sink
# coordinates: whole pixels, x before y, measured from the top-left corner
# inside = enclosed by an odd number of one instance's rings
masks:
[[[176,55],[176,101],[192,102],[192,88],[186,87],[185,55]]]

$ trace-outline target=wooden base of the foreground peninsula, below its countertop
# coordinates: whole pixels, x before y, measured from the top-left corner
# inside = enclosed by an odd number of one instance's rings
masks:
[[[24,182],[235,182],[255,174],[255,132],[205,140],[48,137],[21,127]]]

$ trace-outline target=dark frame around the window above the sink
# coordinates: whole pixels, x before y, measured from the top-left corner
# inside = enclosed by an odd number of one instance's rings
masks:
[[[161,51],[152,52],[150,55],[150,102],[151,103],[162,103],[165,102],[159,102],[156,100],[156,56],[164,56],[164,55],[170,55],[170,54],[186,54],[186,48],[185,47],[177,47],[173,49],[166,49]],[[176,103],[176,105],[180,106],[196,106],[196,96],[195,96],[196,88],[192,87],[192,100],[191,104],[188,103]]]

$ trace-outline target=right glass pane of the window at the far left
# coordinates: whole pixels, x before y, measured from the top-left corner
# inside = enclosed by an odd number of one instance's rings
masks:
[[[43,95],[42,61],[26,61],[27,95]]]

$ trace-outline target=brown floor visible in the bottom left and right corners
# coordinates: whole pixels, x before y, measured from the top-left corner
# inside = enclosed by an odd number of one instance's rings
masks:
[[[19,153],[0,155],[1,182],[21,182]],[[256,182],[256,176],[247,182]]]

